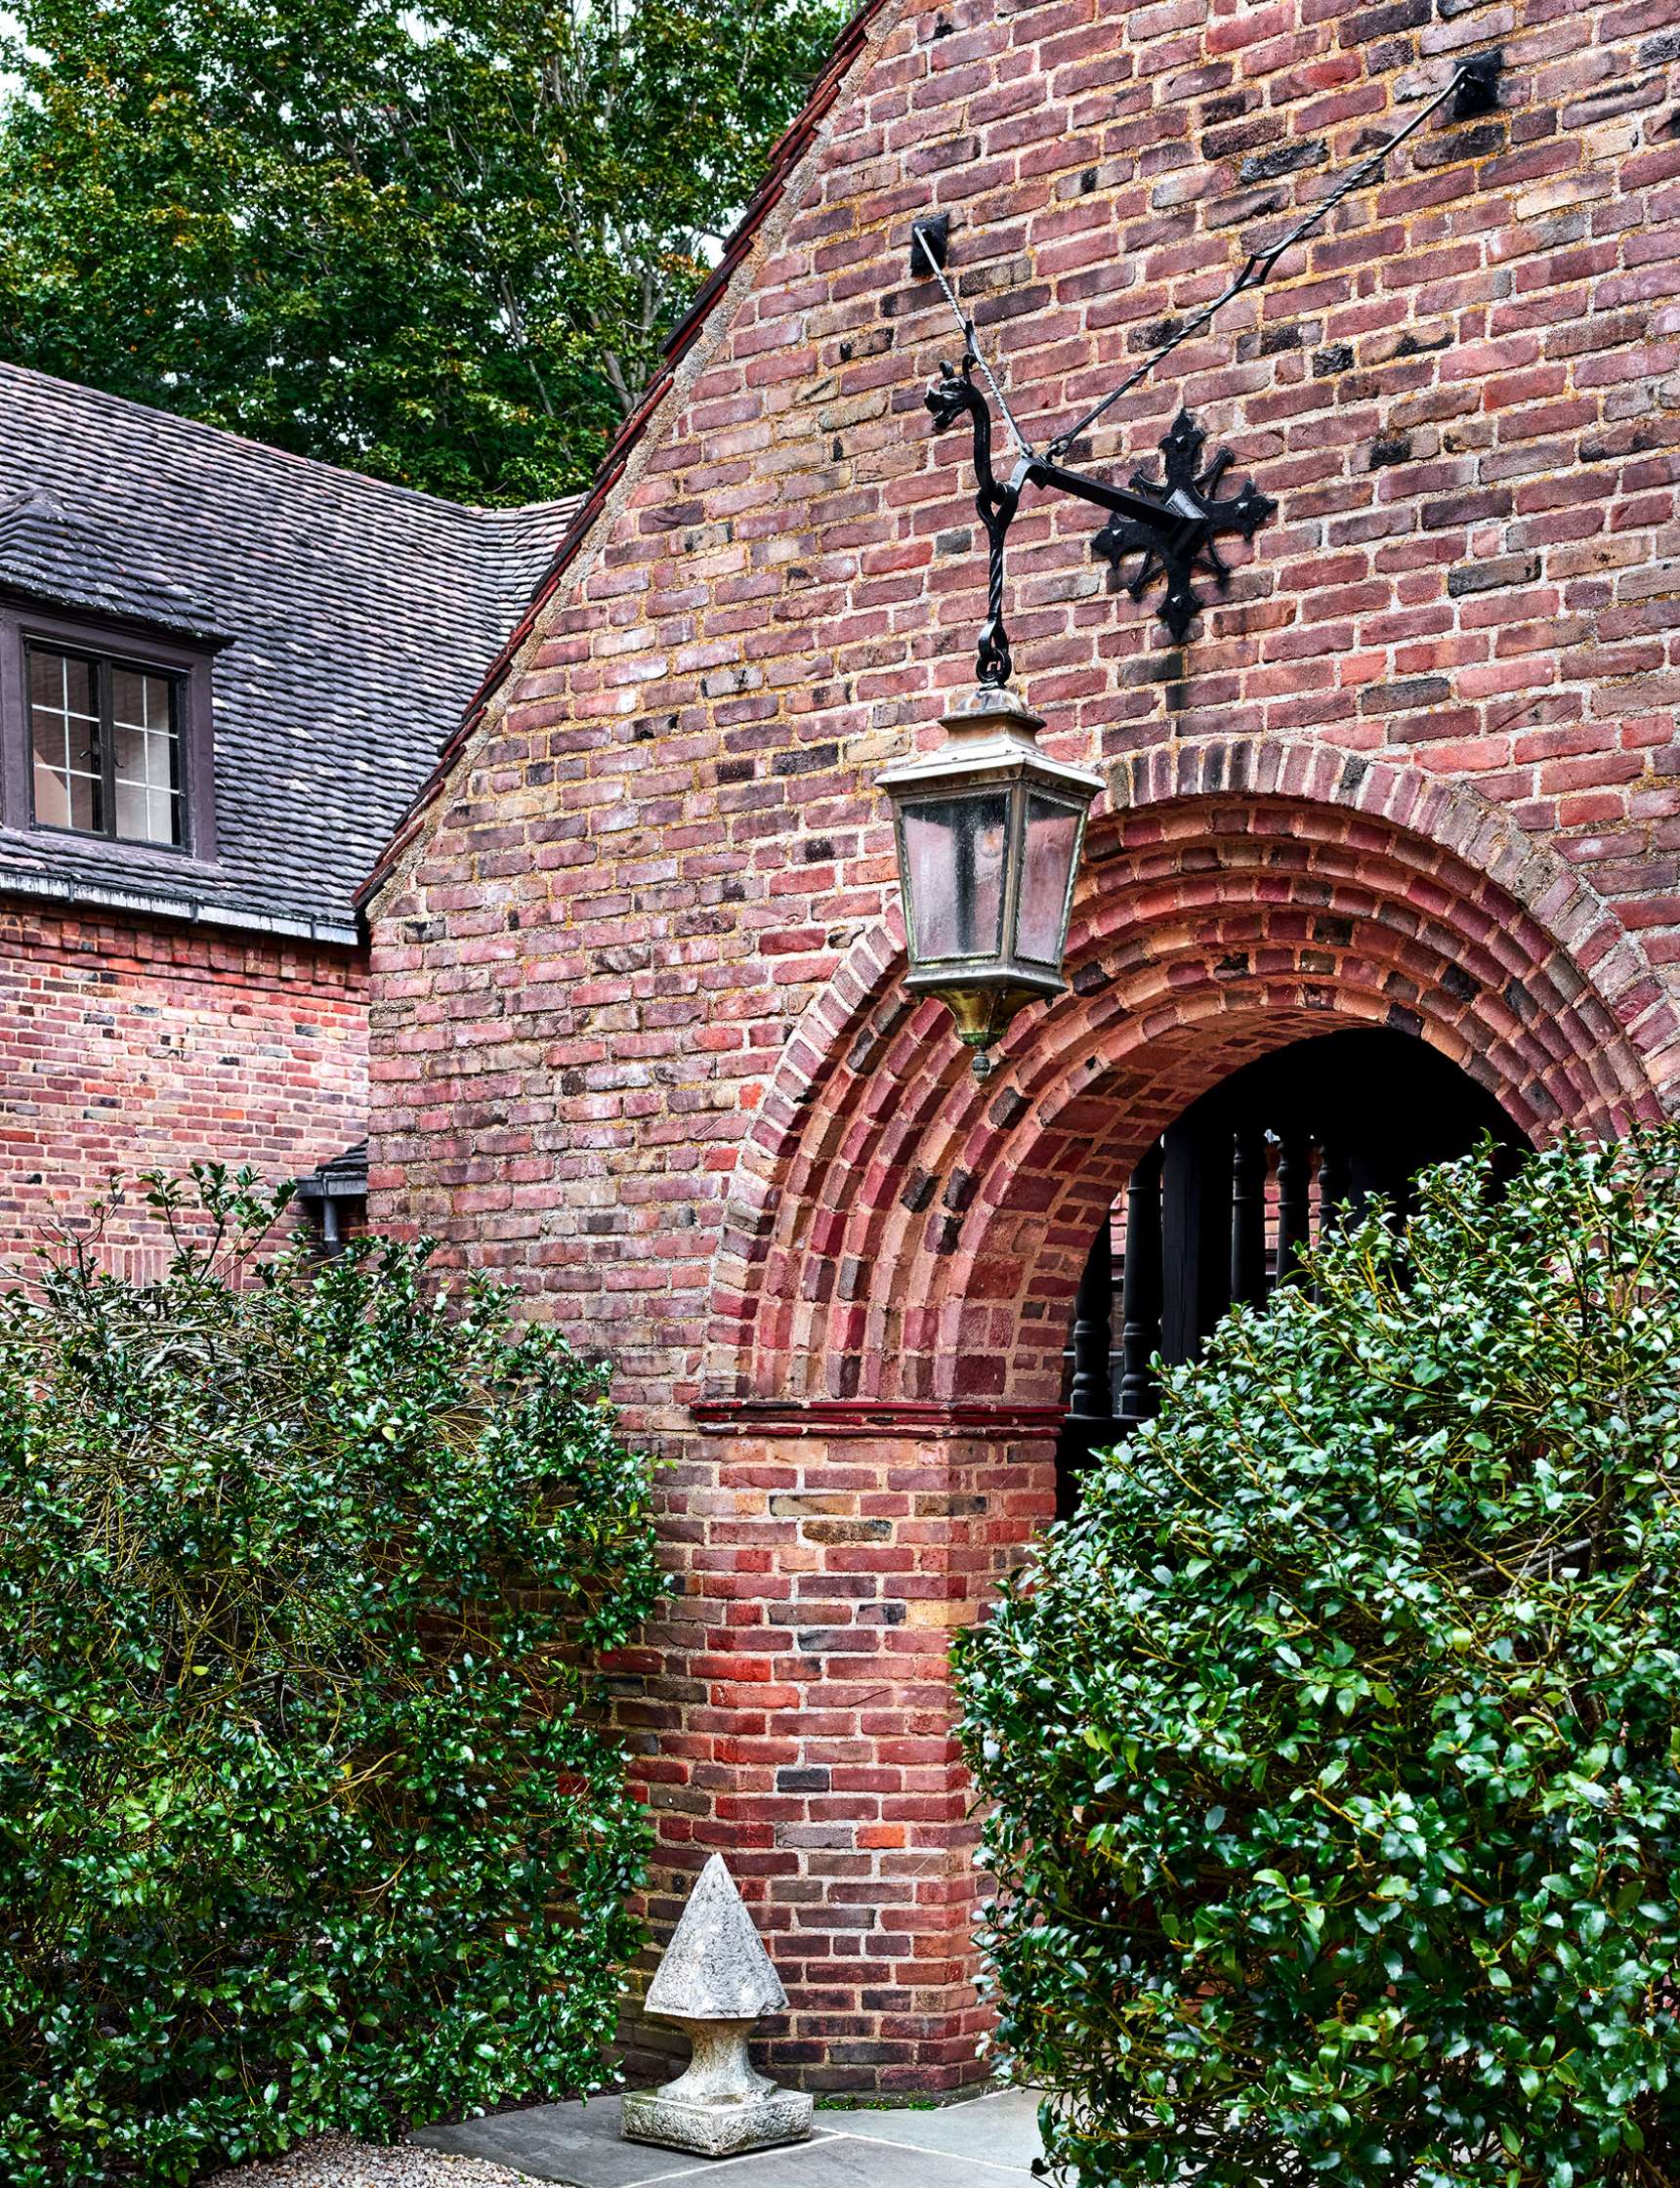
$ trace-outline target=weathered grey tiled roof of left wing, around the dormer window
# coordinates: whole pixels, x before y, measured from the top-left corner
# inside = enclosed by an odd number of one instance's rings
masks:
[[[0,365],[0,600],[219,648],[217,860],[0,831],[0,888],[348,936],[580,503],[464,508]]]

